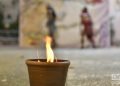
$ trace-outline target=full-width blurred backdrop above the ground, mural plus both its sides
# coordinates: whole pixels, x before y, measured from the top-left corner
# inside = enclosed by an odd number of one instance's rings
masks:
[[[119,21],[120,0],[0,0],[0,46],[116,47]]]

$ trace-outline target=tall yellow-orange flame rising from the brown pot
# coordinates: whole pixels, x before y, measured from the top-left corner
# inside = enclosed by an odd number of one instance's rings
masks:
[[[52,38],[47,36],[45,38],[46,41],[46,54],[47,54],[47,62],[54,62],[54,53],[51,48]]]

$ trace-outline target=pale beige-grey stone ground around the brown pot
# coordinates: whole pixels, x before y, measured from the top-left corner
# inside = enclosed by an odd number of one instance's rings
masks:
[[[45,57],[45,50],[39,50]],[[57,58],[71,65],[66,86],[120,86],[111,74],[120,74],[120,49],[55,49]],[[29,86],[25,60],[36,58],[36,49],[0,48],[0,86]]]

